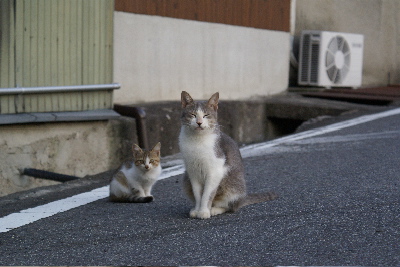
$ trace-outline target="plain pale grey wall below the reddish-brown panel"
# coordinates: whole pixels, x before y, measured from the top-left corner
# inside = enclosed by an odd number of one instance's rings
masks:
[[[290,36],[132,13],[114,13],[116,103],[273,95],[288,85]]]

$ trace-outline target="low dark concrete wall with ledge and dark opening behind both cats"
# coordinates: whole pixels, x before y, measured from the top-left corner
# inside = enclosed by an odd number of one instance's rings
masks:
[[[181,103],[169,101],[139,106],[146,112],[149,145],[154,146],[157,142],[161,142],[162,156],[179,153]],[[221,125],[221,131],[231,136],[240,145],[271,140],[293,133],[304,121],[319,116],[338,116],[349,110],[374,108],[346,102],[305,98],[291,93],[273,97],[257,97],[246,101],[221,100],[218,106],[218,122]]]

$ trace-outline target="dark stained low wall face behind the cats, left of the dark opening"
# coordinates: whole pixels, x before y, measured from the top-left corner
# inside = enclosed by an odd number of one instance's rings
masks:
[[[146,112],[149,146],[161,142],[161,155],[179,153],[181,103],[156,102],[140,105]],[[264,101],[221,101],[221,130],[240,144],[264,141],[268,132]]]

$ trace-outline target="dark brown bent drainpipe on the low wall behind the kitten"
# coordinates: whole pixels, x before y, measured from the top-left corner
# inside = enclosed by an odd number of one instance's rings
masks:
[[[122,116],[135,118],[139,146],[144,149],[149,149],[146,130],[146,112],[144,109],[115,104],[114,110]]]

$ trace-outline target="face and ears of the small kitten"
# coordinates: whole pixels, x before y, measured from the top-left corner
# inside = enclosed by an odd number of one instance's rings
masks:
[[[160,164],[160,148],[161,144],[158,143],[150,151],[143,150],[137,145],[133,145],[133,155],[135,158],[135,165],[142,171],[150,171]]]

